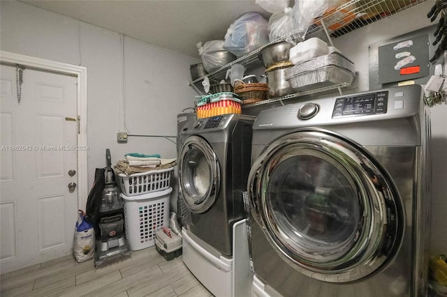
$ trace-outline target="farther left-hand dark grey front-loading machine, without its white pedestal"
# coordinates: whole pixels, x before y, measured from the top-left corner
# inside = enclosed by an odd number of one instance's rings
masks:
[[[225,114],[186,123],[180,140],[179,190],[191,212],[186,229],[231,256],[231,228],[246,218],[254,116]]]

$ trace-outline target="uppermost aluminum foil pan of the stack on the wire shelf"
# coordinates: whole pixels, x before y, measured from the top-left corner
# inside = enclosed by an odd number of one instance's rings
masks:
[[[346,57],[342,54],[333,52],[332,54],[326,54],[325,56],[317,56],[314,59],[310,59],[298,65],[292,66],[291,68],[288,68],[287,77],[330,65],[344,68],[348,71],[351,71],[351,73],[356,73],[356,68],[354,68],[353,62],[346,59]]]

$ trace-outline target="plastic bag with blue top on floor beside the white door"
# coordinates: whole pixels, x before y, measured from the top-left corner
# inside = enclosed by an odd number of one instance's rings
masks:
[[[83,262],[93,258],[95,246],[93,225],[85,220],[85,213],[79,210],[73,238],[73,253],[76,261]]]

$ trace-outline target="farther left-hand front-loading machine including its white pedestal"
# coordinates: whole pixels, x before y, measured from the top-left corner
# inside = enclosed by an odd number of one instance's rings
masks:
[[[186,123],[180,132],[183,261],[215,296],[251,291],[242,192],[251,167],[254,119],[224,114]]]

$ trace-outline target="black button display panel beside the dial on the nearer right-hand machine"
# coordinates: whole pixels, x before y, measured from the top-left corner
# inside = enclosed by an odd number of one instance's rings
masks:
[[[386,114],[388,91],[337,98],[332,119],[343,116],[366,116],[369,114]]]

